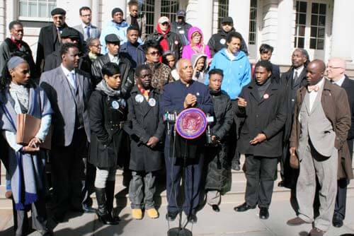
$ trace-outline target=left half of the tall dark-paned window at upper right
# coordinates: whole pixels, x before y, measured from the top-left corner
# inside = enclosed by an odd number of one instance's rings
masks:
[[[294,47],[304,48],[305,29],[306,29],[306,12],[307,12],[307,2],[306,1],[296,1]]]

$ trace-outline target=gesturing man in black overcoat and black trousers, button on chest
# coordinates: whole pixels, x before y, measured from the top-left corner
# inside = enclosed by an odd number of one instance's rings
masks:
[[[282,128],[286,120],[285,90],[273,81],[272,64],[258,61],[256,81],[239,96],[236,114],[244,119],[237,151],[246,155],[246,202],[235,211],[260,208],[259,218],[269,217],[278,158],[282,155]]]

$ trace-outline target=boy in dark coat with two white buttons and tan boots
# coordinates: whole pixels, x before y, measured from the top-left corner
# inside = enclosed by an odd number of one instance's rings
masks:
[[[142,208],[150,218],[158,218],[154,208],[156,171],[161,170],[164,122],[159,115],[159,91],[152,88],[152,71],[142,64],[135,71],[137,85],[128,100],[128,121],[132,123],[129,196],[132,218],[142,219]],[[145,196],[144,196],[145,195]]]

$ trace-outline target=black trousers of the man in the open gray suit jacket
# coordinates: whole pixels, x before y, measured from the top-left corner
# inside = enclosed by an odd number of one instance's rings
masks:
[[[52,146],[52,184],[55,196],[53,214],[63,218],[70,208],[82,209],[83,158],[87,157],[87,137],[84,129],[74,132],[69,146]]]

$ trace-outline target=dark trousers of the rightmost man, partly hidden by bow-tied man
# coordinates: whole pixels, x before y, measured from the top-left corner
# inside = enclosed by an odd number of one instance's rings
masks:
[[[353,139],[348,140],[350,158],[353,155]],[[336,206],[334,207],[334,215],[342,220],[346,218],[346,201],[347,201],[347,186],[349,179],[338,179],[338,189],[336,196]]]

